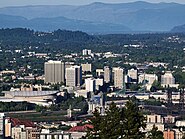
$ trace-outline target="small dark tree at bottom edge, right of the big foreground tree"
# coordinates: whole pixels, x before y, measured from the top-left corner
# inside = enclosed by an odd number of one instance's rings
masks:
[[[158,128],[153,125],[152,130],[149,131],[148,139],[164,139],[163,132],[159,131]]]

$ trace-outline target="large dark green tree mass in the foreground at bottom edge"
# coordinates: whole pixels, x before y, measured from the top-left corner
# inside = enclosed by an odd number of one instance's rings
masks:
[[[142,139],[145,136],[141,132],[141,128],[146,126],[145,117],[131,100],[126,103],[125,108],[120,109],[112,103],[104,116],[97,110],[93,115],[90,124],[94,128],[88,129],[86,136],[89,139]]]

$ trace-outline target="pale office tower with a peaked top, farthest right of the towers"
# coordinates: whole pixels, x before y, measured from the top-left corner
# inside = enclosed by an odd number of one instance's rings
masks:
[[[168,71],[164,75],[161,75],[161,84],[166,86],[175,84],[175,78],[171,72]]]

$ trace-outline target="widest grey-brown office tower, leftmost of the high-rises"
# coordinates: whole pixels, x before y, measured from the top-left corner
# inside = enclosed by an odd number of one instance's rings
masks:
[[[44,64],[45,83],[65,82],[65,63],[61,61],[48,61]]]

